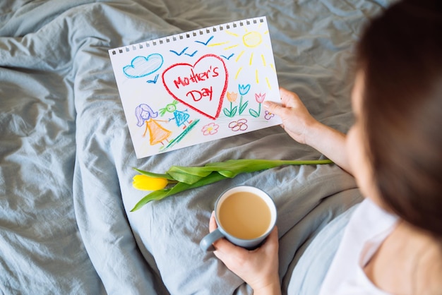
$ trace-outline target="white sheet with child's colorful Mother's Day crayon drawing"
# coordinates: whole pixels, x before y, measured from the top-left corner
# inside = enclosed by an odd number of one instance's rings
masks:
[[[109,50],[137,158],[281,124],[265,17]]]

